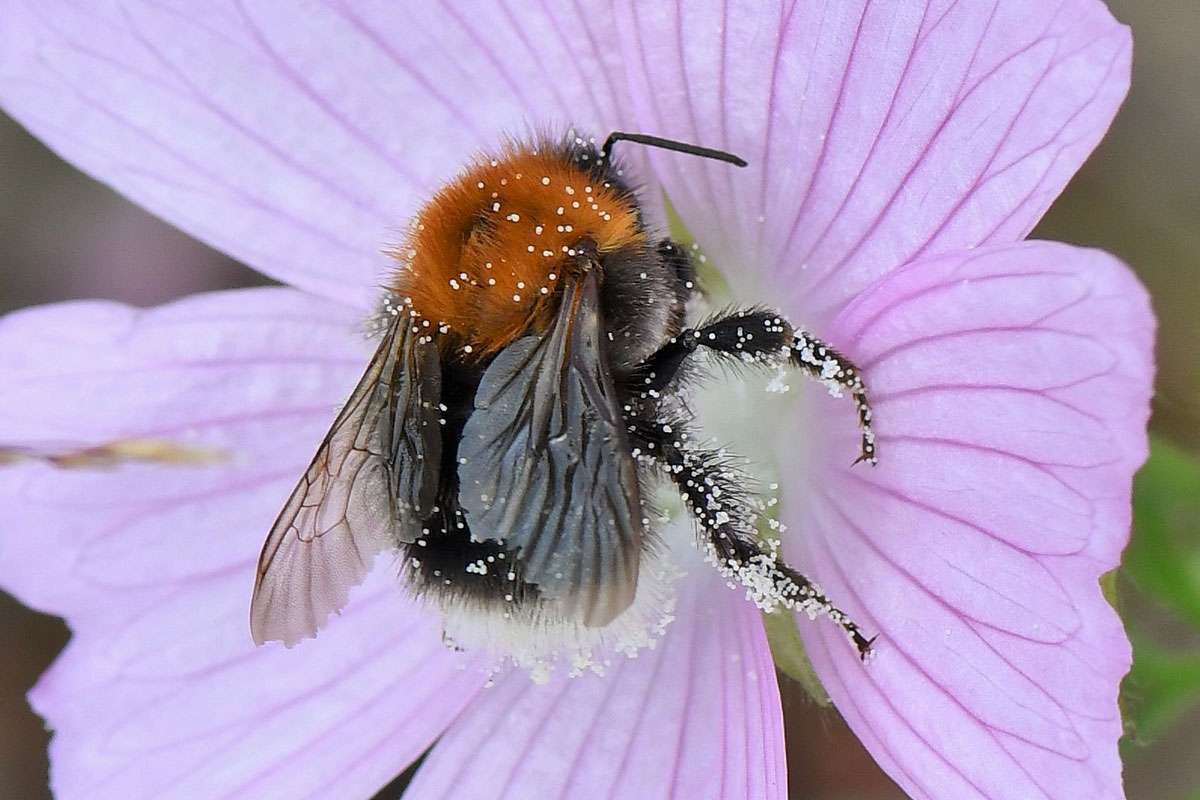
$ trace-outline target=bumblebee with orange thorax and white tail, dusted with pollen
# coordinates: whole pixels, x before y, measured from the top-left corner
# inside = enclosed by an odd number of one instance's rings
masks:
[[[599,149],[541,137],[438,192],[395,253],[374,356],[266,537],[256,642],[314,636],[380,552],[398,553],[402,583],[463,646],[601,634],[642,595],[660,602],[640,587],[661,549],[643,498],[665,480],[710,560],[761,606],[823,613],[870,651],[760,540],[745,477],[696,444],[684,380],[700,350],[791,365],[845,390],[858,459],[874,463],[859,372],[767,308],[688,327],[692,260],[647,223],[612,155],[622,140],[745,166],[635,133]]]

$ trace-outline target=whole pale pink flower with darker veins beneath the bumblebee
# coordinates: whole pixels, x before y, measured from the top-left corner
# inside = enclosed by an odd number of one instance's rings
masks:
[[[745,156],[634,157],[743,296],[865,369],[878,468],[848,467],[852,414],[811,391],[776,440],[785,551],[882,633],[864,666],[800,622],[883,769],[914,798],[1123,796],[1129,645],[1097,582],[1146,453],[1153,319],[1114,258],[1020,240],[1128,74],[1092,0],[5,2],[10,114],[294,287],[0,323],[0,441],[233,455],[0,471],[0,583],[73,631],[31,693],[56,793],[368,796],[433,745],[407,798],[785,796],[758,613],[706,569],[605,678],[484,688],[383,569],[318,639],[250,639],[263,535],[368,357],[383,246],[478,149],[574,122]]]

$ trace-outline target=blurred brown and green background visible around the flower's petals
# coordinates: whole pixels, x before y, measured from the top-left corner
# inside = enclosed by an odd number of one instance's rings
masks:
[[[1128,796],[1200,800],[1200,1],[1109,4],[1134,30],[1129,100],[1036,236],[1128,261],[1159,318],[1154,452],[1116,577],[1135,645],[1124,686]],[[71,297],[158,303],[263,278],[64,164],[0,115],[0,313]],[[24,694],[68,638],[0,593],[0,796],[43,798],[47,734]],[[793,798],[902,798],[781,676]],[[395,796],[395,792],[392,792]]]

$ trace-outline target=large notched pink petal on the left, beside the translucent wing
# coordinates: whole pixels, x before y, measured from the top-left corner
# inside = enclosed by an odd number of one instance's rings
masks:
[[[251,640],[258,551],[370,357],[359,324],[290,289],[0,320],[0,441],[226,456],[0,470],[0,584],[73,631],[31,693],[58,796],[367,796],[484,682],[386,569],[319,639]]]

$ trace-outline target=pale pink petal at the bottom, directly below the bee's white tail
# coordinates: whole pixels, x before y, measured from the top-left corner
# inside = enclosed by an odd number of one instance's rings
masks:
[[[485,691],[406,799],[786,798],[758,612],[703,563],[682,583],[655,649],[618,656],[604,676],[535,685],[514,672]]]

